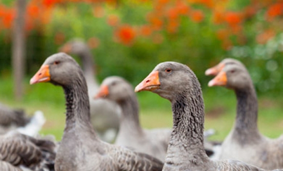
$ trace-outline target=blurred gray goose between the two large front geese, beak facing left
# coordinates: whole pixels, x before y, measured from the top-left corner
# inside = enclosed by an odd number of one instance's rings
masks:
[[[118,76],[107,77],[95,98],[105,98],[121,107],[120,129],[116,145],[133,148],[164,161],[170,128],[143,129],[139,119],[139,103],[133,86]]]

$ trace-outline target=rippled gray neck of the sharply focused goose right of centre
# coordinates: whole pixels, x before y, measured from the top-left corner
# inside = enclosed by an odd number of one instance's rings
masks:
[[[197,78],[185,90],[176,94],[172,103],[173,131],[169,142],[166,163],[198,165],[209,158],[203,147],[204,105],[202,90]],[[174,160],[174,156],[182,159]]]

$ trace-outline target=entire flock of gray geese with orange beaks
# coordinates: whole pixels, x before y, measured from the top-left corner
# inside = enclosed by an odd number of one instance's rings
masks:
[[[119,76],[98,85],[86,44],[71,41],[61,51],[30,80],[31,85],[49,82],[63,88],[61,142],[9,131],[0,138],[1,171],[283,171],[283,135],[269,139],[258,130],[256,91],[241,62],[224,59],[205,71],[215,76],[209,86],[232,89],[237,97],[234,127],[217,151],[205,138],[202,89],[187,65],[160,63],[135,88]],[[81,57],[84,70],[67,53]],[[173,128],[141,127],[140,91],[171,102]],[[30,120],[15,116],[20,122],[13,125]]]

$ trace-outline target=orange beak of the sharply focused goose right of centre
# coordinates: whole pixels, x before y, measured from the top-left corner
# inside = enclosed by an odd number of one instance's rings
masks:
[[[135,92],[153,91],[160,87],[158,71],[151,72],[139,85],[136,86]]]

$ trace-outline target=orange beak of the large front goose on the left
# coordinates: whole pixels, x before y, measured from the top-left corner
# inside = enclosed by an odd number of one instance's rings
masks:
[[[40,70],[30,79],[29,84],[43,83],[50,81],[49,65],[42,65]]]

